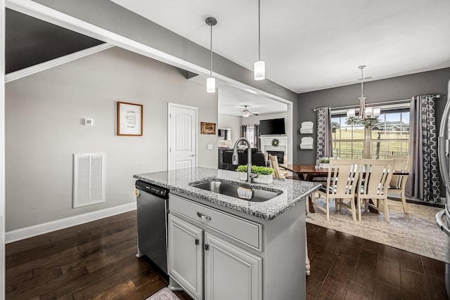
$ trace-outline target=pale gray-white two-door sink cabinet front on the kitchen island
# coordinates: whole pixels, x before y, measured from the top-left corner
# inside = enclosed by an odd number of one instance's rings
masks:
[[[214,229],[224,226],[224,231],[228,231],[240,226],[245,231],[247,226],[256,237],[243,238],[242,244],[257,245],[259,226],[179,197],[171,197],[171,200],[169,276],[198,300],[262,299],[261,257],[238,247],[240,240],[233,243],[219,237],[221,233]],[[199,221],[191,219],[194,216]],[[209,226],[204,226],[205,223]],[[235,239],[230,237],[229,240]]]

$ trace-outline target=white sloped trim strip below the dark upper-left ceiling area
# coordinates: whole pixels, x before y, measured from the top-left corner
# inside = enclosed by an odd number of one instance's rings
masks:
[[[58,67],[58,65],[63,65],[65,63],[71,62],[72,60],[77,60],[78,58],[84,58],[85,56],[90,56],[91,54],[94,54],[94,53],[97,53],[97,52],[100,52],[100,51],[103,51],[103,50],[106,50],[106,49],[112,48],[112,47],[114,47],[114,45],[105,43],[105,44],[101,44],[98,46],[84,49],[82,51],[68,54],[67,56],[55,58],[53,60],[46,61],[45,63],[39,63],[38,65],[26,67],[23,70],[11,72],[9,74],[6,74],[5,83],[23,78],[25,76],[35,74],[37,72],[48,70],[51,67]]]

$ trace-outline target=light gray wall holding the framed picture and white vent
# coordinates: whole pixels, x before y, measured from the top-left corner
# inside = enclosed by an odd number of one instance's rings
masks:
[[[117,101],[143,104],[143,136],[117,136]],[[136,201],[133,174],[167,169],[168,102],[217,123],[217,93],[120,48],[6,84],[6,230]],[[198,138],[199,165],[217,167],[217,136]],[[106,202],[72,209],[72,155],[82,152],[106,153]]]

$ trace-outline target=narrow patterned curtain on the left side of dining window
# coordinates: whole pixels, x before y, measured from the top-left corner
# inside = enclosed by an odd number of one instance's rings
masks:
[[[333,157],[333,140],[331,129],[331,108],[316,108],[317,112],[317,145],[316,159]]]

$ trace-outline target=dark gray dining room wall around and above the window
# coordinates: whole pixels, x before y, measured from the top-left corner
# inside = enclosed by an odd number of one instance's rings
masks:
[[[450,68],[420,72],[411,75],[393,77],[364,83],[364,95],[367,103],[401,100],[418,95],[440,94],[436,103],[437,126],[446,103],[447,83],[450,79]],[[314,143],[316,143],[316,112],[314,108],[321,106],[337,107],[342,105],[358,105],[361,84],[340,86],[310,93],[300,93],[297,103],[297,122],[294,122],[294,136],[297,138],[294,148],[295,164],[314,164],[316,150],[300,150],[298,143],[303,135],[299,134],[300,124],[304,121],[314,122]],[[296,120],[294,116],[294,120]],[[295,141],[294,141],[295,142]]]

